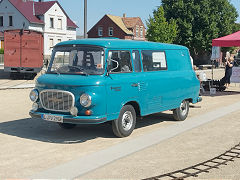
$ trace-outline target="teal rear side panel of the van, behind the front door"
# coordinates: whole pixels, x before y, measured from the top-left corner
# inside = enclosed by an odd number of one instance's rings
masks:
[[[162,51],[166,53],[167,70],[143,72],[147,91],[142,98],[147,107],[141,109],[142,115],[178,108],[183,100],[195,102],[199,95],[199,80],[188,50]]]

